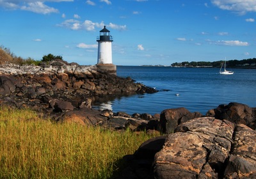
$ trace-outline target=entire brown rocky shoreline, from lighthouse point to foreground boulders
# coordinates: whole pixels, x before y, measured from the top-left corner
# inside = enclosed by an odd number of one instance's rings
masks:
[[[255,107],[230,103],[205,115],[177,108],[154,116],[91,107],[95,97],[156,92],[95,66],[65,61],[0,65],[1,105],[33,109],[56,122],[163,134],[122,159],[128,165],[120,178],[256,178]]]

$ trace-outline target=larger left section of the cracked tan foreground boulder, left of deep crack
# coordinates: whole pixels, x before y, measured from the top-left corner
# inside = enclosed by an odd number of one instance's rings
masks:
[[[156,178],[223,176],[235,125],[211,117],[182,123],[155,157]],[[210,171],[210,173],[207,173]]]

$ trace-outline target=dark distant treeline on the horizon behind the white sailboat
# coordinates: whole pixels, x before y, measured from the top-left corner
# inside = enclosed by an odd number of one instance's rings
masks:
[[[191,66],[191,67],[196,67],[196,66],[212,66],[212,67],[220,67],[223,61],[183,61],[181,63],[172,63],[172,66]],[[237,60],[237,59],[232,59],[226,61],[227,66],[229,67],[256,67],[256,58],[249,58],[249,59],[242,59],[242,60]]]

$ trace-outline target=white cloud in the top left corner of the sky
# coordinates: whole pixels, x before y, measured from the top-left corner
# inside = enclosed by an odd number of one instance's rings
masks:
[[[12,10],[25,10],[34,13],[42,13],[42,14],[49,14],[49,13],[58,13],[59,11],[56,8],[52,8],[50,6],[45,5],[45,2],[56,2],[60,3],[63,1],[74,1],[74,0],[38,0],[38,1],[31,1],[31,0],[13,0],[11,3],[9,0],[0,0],[0,6],[3,8],[8,8]]]

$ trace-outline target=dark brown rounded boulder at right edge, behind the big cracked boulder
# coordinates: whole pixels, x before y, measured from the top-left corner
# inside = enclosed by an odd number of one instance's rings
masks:
[[[254,130],[256,128],[256,109],[245,104],[236,102],[228,105],[221,104],[215,109],[215,118],[244,124]]]

